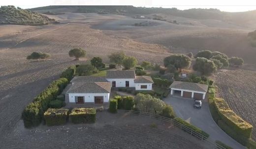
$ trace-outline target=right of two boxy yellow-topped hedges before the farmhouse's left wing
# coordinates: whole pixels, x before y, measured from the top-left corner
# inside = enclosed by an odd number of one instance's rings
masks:
[[[95,123],[96,109],[95,108],[73,108],[69,114],[69,119],[74,124],[79,123]]]

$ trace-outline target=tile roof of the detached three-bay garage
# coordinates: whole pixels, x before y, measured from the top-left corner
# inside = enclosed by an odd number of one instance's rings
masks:
[[[192,82],[182,82],[182,81],[174,81],[170,88],[198,91],[198,92],[207,92],[208,85],[200,84],[200,83],[192,83]]]

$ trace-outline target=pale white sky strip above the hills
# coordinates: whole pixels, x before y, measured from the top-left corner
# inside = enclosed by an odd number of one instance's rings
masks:
[[[227,12],[256,10],[256,0],[0,0],[0,5],[34,8],[48,5],[133,5],[142,7],[217,8]]]

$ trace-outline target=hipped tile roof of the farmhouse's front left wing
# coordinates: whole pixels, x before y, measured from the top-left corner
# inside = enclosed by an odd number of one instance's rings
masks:
[[[74,83],[67,93],[110,93],[110,82],[77,82]]]

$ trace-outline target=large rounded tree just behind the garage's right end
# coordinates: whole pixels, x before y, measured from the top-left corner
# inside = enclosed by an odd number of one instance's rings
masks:
[[[193,70],[200,72],[202,75],[210,75],[216,71],[216,66],[211,60],[204,57],[197,57],[193,65]]]

